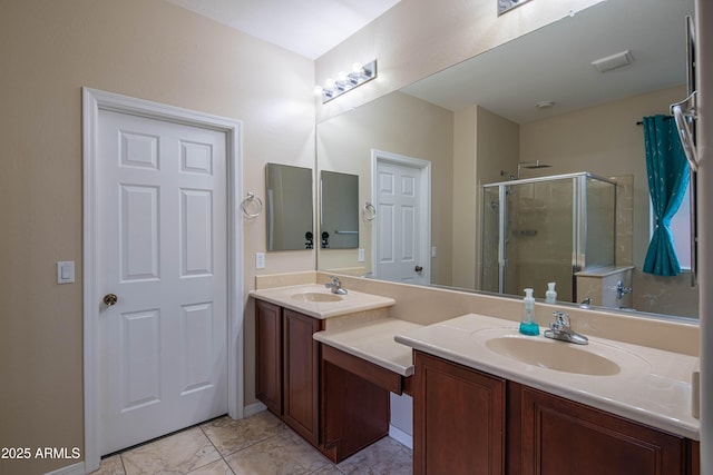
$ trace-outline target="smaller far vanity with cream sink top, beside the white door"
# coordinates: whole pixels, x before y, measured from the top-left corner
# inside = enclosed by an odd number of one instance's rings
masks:
[[[253,296],[257,398],[335,463],[384,437],[389,393],[401,394],[407,376],[322,345],[314,336],[344,320],[383,320],[393,299],[360,293],[338,296],[323,286]],[[411,324],[403,321],[399,328],[407,328],[403,325]],[[393,335],[388,338],[400,346]],[[403,353],[412,367],[408,348]]]

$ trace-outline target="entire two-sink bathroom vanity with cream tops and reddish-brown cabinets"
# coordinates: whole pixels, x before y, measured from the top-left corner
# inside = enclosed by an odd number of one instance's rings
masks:
[[[351,288],[333,296],[318,284],[252,295],[257,396],[334,462],[388,434],[394,393],[413,398],[414,474],[700,473],[695,353],[627,343],[631,335],[572,345],[480,314],[408,321],[393,317],[392,298]],[[469,305],[485,309],[477,298]],[[498,299],[499,311],[506,305]],[[621,321],[618,335],[633,324]]]

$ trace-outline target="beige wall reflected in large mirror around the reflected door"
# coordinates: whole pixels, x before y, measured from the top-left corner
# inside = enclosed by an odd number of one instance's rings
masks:
[[[358,175],[360,206],[372,200],[372,149],[431,162],[431,246],[445,250],[430,259],[431,281],[450,285],[453,113],[394,92],[321,122],[318,130],[318,171]],[[364,249],[365,263],[356,261],[356,249],[320,249],[320,269],[372,270],[373,224],[360,219],[359,228],[359,246]]]

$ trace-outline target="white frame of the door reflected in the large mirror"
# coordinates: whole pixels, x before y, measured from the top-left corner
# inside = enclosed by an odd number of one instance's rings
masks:
[[[422,277],[426,279],[424,284],[431,283],[431,162],[422,160],[420,158],[413,158],[406,155],[392,154],[390,151],[383,151],[378,149],[371,149],[371,202],[379,209],[379,194],[377,192],[377,180],[379,164],[393,164],[404,167],[418,168],[420,170],[420,202],[421,226],[419,227],[419,253],[426,259],[426,268]],[[371,268],[374,271],[374,276],[380,278],[377,270],[377,264],[379,259],[379,224],[375,222],[374,228],[371,231]]]

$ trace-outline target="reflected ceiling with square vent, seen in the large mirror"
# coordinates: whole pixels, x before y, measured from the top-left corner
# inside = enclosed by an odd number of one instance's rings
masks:
[[[684,85],[684,19],[693,11],[693,0],[604,1],[403,91],[450,110],[477,103],[526,123]],[[628,66],[605,73],[592,66],[625,50]],[[555,106],[537,109],[541,101]]]

